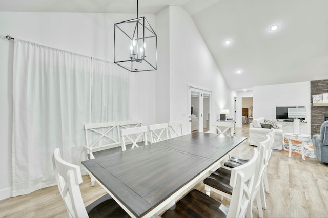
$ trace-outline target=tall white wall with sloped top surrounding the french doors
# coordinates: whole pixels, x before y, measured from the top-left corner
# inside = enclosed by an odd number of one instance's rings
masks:
[[[178,6],[169,6],[169,10],[170,119],[183,120],[183,131],[187,133],[188,84],[212,91],[212,121],[222,108],[233,111],[234,92],[229,89],[190,15]]]

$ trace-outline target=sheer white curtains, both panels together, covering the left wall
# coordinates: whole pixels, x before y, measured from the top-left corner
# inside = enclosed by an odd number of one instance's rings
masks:
[[[57,147],[80,165],[85,123],[131,119],[133,77],[113,65],[15,39],[13,196],[56,184]]]

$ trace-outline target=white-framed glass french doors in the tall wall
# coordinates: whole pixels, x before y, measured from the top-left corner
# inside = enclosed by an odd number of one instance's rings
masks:
[[[212,92],[188,86],[188,99],[189,133],[194,131],[209,131],[212,111]]]

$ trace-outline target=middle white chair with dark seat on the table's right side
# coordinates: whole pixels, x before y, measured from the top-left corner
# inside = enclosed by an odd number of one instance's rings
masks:
[[[250,205],[249,210],[252,211],[253,201],[256,199],[257,206],[258,206],[257,209],[258,209],[258,213],[259,213],[260,217],[263,217],[263,211],[262,211],[263,205],[262,205],[262,201],[261,201],[261,188],[262,188],[262,184],[263,184],[263,173],[264,173],[264,169],[265,169],[265,162],[269,155],[269,144],[270,144],[270,137],[268,136],[267,140],[265,140],[264,142],[261,142],[257,148],[259,151],[260,162],[257,165],[257,169],[256,169],[256,177],[255,177],[256,179],[255,179],[255,183],[254,183],[254,191],[252,193],[250,193],[252,204]],[[247,163],[245,163],[245,164],[247,164]],[[243,164],[243,165],[245,165],[245,164]],[[240,166],[243,166],[243,165],[240,165]],[[232,169],[234,169],[234,168],[232,168]],[[229,170],[229,169],[223,168],[223,167],[218,168],[209,177],[204,179],[206,194],[210,195],[210,191],[213,191],[213,192],[221,195],[221,200],[223,200],[222,197],[231,199],[232,192],[233,192],[233,187],[231,187],[229,185],[231,175],[232,175],[232,170]],[[251,213],[251,212],[249,212],[249,213]]]

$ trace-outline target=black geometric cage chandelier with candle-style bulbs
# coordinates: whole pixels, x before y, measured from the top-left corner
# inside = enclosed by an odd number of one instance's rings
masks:
[[[157,35],[145,17],[116,23],[114,63],[131,72],[157,69]]]

